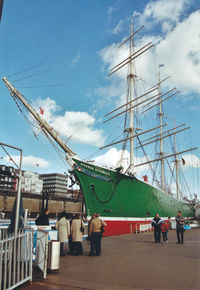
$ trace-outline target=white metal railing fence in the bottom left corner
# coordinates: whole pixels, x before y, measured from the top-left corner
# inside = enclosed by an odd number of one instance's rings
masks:
[[[0,232],[0,289],[14,289],[32,281],[31,229],[23,229],[16,236]]]

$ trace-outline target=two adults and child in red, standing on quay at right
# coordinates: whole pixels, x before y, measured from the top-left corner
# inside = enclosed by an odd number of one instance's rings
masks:
[[[170,219],[170,218],[168,218]],[[184,242],[184,226],[185,218],[182,215],[182,211],[178,210],[176,220],[176,234],[177,234],[177,244],[183,244]],[[155,243],[161,243],[161,233],[163,243],[168,243],[168,231],[169,231],[169,220],[162,220],[159,214],[156,213],[155,217],[151,221],[154,228],[154,240]]]

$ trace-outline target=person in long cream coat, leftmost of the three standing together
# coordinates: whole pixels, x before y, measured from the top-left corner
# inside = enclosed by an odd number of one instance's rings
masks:
[[[67,219],[66,212],[63,211],[56,222],[56,229],[58,230],[58,237],[60,241],[60,255],[65,256],[64,243],[68,241],[70,235],[70,223]]]

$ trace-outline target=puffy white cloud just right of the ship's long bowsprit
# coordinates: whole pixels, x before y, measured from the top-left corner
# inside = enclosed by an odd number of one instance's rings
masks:
[[[38,99],[34,106],[43,108],[43,118],[63,137],[70,137],[74,142],[82,144],[104,144],[103,130],[95,129],[96,120],[87,112],[66,111],[64,115],[58,115],[57,110],[60,107],[49,97]]]

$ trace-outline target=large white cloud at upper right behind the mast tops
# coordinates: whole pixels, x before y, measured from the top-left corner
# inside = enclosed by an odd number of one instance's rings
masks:
[[[161,75],[162,72],[164,72],[165,76],[171,75],[173,86],[175,83],[175,86],[181,89],[184,94],[192,94],[194,92],[199,94],[200,10],[186,16],[184,12],[187,8],[188,1],[171,0],[169,2],[169,9],[161,9],[162,12],[159,16],[157,15],[159,14],[158,7],[162,4],[164,6],[168,5],[168,1],[155,1],[150,2],[150,4],[149,6],[147,5],[148,9],[146,8],[144,10],[144,20],[146,20],[149,15],[149,17],[154,17],[157,22],[167,28],[165,29],[165,34],[159,33],[158,30],[157,34],[155,34],[154,30],[152,34],[148,33],[142,38],[137,38],[135,42],[135,50],[141,48],[150,41],[155,44],[154,48],[139,56],[135,61],[136,74],[144,79],[147,84],[144,89],[148,89],[151,85],[157,83],[158,64],[164,63],[165,67],[161,69]],[[142,16],[138,17],[141,21]],[[111,68],[127,58],[128,55],[129,48],[126,45],[118,48],[118,44],[113,43],[102,49],[100,51],[100,57],[103,62],[104,73],[109,73]],[[118,97],[117,105],[119,104],[119,100],[123,103],[126,92],[126,75],[127,66],[111,76],[112,79],[109,80],[107,86],[104,88],[101,87],[96,91],[111,98],[114,96]],[[171,88],[170,81],[168,81],[167,84]]]

